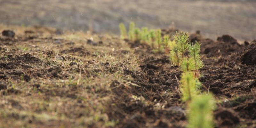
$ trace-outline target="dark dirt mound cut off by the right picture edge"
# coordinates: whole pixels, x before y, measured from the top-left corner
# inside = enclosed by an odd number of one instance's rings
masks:
[[[256,64],[256,40],[249,44],[241,56],[242,64],[255,65]]]

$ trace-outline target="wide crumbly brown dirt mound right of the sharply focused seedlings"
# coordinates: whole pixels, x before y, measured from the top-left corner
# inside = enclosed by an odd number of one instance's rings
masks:
[[[201,39],[201,53],[205,64],[225,65],[226,63],[239,62],[239,54],[244,50],[244,45],[238,44],[232,36],[223,35],[217,41]],[[215,59],[213,59],[215,58]]]

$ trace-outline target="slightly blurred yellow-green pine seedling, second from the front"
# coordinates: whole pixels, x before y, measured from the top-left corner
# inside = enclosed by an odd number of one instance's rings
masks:
[[[181,100],[183,102],[191,101],[198,95],[199,92],[196,88],[196,79],[192,72],[183,72],[181,74],[180,83],[180,91],[182,93]]]

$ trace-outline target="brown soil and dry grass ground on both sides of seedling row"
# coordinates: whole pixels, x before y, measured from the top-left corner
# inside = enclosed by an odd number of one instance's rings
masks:
[[[181,72],[148,44],[54,28],[0,26],[0,127],[186,126]],[[174,29],[163,29],[172,35]],[[56,34],[57,33],[57,34]],[[256,126],[255,45],[231,36],[201,42],[202,92],[217,100],[216,127]],[[93,38],[93,40],[92,40]]]

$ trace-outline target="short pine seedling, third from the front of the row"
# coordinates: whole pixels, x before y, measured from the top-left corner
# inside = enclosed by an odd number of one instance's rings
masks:
[[[192,58],[184,58],[181,62],[180,69],[183,72],[191,72],[195,70],[195,64]]]

